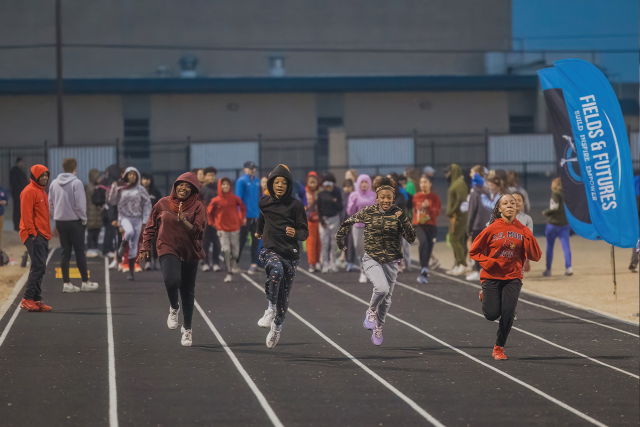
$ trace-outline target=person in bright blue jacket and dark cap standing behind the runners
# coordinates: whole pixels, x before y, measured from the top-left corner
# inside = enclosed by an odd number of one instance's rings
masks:
[[[236,196],[242,200],[246,206],[246,224],[240,228],[240,247],[238,263],[242,255],[242,250],[246,244],[247,234],[251,233],[251,266],[247,273],[255,273],[258,266],[258,249],[260,247],[259,239],[254,238],[255,230],[258,227],[258,218],[260,209],[258,201],[260,200],[260,179],[255,176],[257,167],[252,161],[244,162],[244,175],[236,181]]]

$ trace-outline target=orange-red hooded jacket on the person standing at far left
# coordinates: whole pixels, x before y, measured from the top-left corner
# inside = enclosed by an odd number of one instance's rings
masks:
[[[40,234],[51,240],[51,223],[49,223],[49,197],[44,187],[38,184],[40,175],[49,172],[46,166],[31,166],[31,182],[20,193],[20,239],[22,243],[29,236]]]

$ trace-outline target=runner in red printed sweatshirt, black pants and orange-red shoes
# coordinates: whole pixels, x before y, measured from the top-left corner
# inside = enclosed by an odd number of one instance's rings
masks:
[[[531,230],[516,220],[516,199],[503,194],[493,208],[489,225],[471,245],[469,255],[480,263],[482,289],[479,293],[487,320],[500,319],[493,359],[505,360],[507,341],[518,296],[522,288],[522,264],[525,259],[538,261],[542,256]]]

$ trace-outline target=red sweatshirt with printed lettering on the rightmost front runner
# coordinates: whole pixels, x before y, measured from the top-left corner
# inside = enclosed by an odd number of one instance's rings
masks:
[[[480,263],[480,280],[511,280],[522,278],[525,259],[538,261],[542,256],[538,241],[531,230],[518,220],[511,224],[498,218],[477,236],[469,251]]]

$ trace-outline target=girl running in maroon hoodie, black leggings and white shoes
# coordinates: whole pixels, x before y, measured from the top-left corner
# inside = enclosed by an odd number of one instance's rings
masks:
[[[200,200],[200,182],[193,172],[182,173],[173,183],[171,194],[154,205],[142,238],[142,249],[138,261],[142,262],[151,250],[151,241],[156,237],[156,249],[160,259],[160,269],[169,296],[169,317],[166,321],[170,329],[178,327],[182,297],[184,325],[182,345],[190,346],[191,316],[195,301],[196,274],[198,261],[204,258],[202,239],[207,225],[207,208]]]

